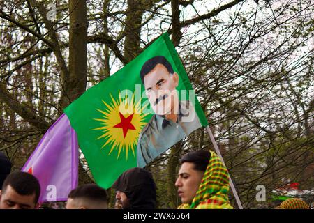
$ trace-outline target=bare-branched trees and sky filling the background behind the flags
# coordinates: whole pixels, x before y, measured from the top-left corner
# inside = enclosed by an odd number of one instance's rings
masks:
[[[70,102],[167,31],[244,207],[273,208],[271,192],[291,182],[313,191],[313,9],[311,0],[0,1],[0,151],[21,168]],[[179,158],[197,149],[213,149],[204,128],[147,167],[159,208],[179,205]],[[80,183],[91,182],[82,166]],[[257,185],[267,201],[256,201]]]

